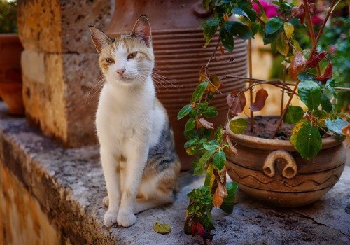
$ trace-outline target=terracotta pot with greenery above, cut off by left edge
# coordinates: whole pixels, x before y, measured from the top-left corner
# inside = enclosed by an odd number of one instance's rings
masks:
[[[23,115],[22,73],[23,50],[17,33],[17,2],[0,1],[0,97],[12,115]]]

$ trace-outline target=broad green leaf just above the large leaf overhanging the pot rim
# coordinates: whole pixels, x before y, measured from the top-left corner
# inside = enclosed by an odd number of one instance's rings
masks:
[[[297,86],[301,101],[307,106],[309,111],[317,109],[321,104],[321,87],[311,80],[305,80]]]

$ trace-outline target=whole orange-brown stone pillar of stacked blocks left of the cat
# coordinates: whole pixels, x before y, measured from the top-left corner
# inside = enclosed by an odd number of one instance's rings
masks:
[[[27,120],[64,146],[96,142],[99,68],[88,25],[106,29],[111,1],[19,1]]]

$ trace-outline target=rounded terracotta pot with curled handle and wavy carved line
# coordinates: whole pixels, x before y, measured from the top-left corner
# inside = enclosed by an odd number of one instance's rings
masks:
[[[339,180],[346,162],[342,141],[323,139],[316,157],[305,160],[290,141],[234,135],[239,155],[226,166],[239,188],[266,204],[300,207],[320,199]]]

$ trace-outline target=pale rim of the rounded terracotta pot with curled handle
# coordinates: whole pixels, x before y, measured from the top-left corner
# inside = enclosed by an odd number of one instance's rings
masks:
[[[286,151],[297,151],[290,141],[286,139],[264,139],[245,134],[234,134],[232,132],[230,132],[230,136],[237,142],[237,144],[241,144],[242,146],[248,146],[251,148],[256,146],[255,148],[260,148],[262,150],[283,149]],[[344,139],[337,140],[334,137],[323,138],[321,150],[342,144],[343,141]]]

